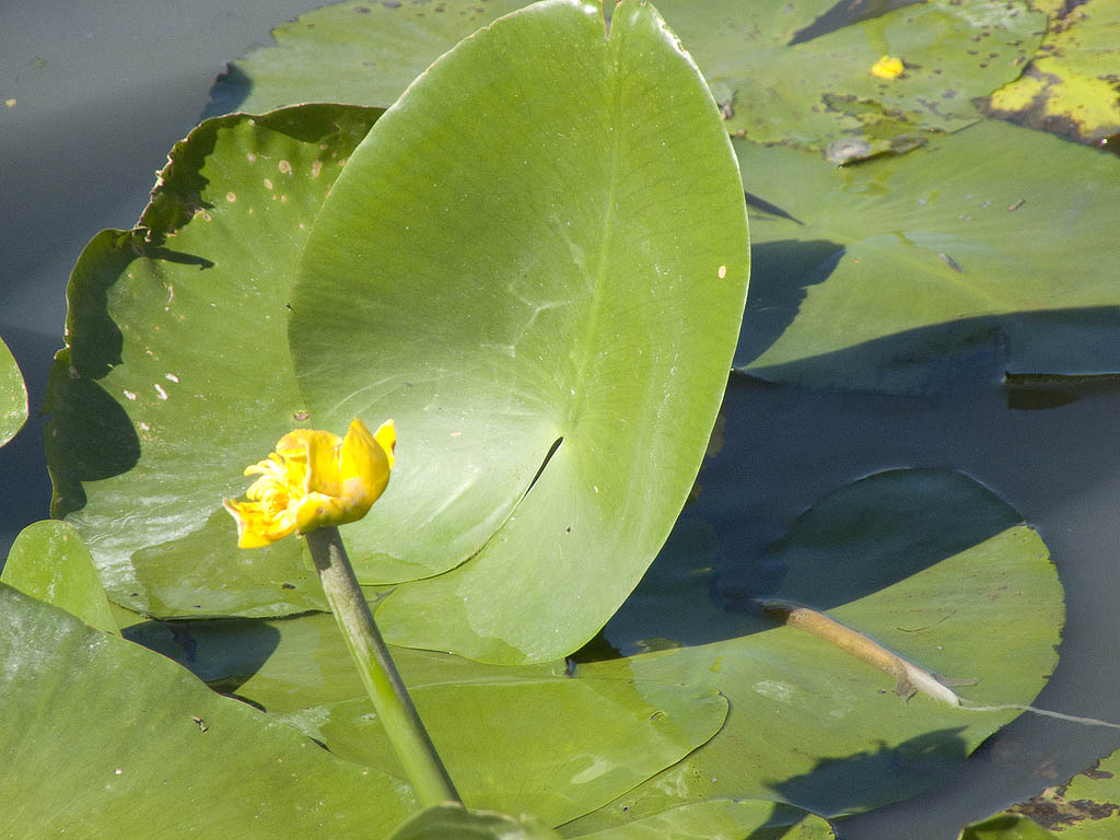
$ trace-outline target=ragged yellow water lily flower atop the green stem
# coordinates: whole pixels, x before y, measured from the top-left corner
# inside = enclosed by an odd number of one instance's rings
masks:
[[[371,435],[354,418],[345,438],[316,429],[288,432],[265,460],[245,469],[260,476],[245,492],[249,501],[223,502],[237,521],[237,545],[253,549],[362,519],[389,484],[395,445],[392,420]]]

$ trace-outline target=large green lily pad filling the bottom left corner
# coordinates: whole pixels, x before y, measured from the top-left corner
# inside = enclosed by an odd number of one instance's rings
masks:
[[[6,585],[0,614],[6,837],[377,837],[417,806],[159,654]]]

